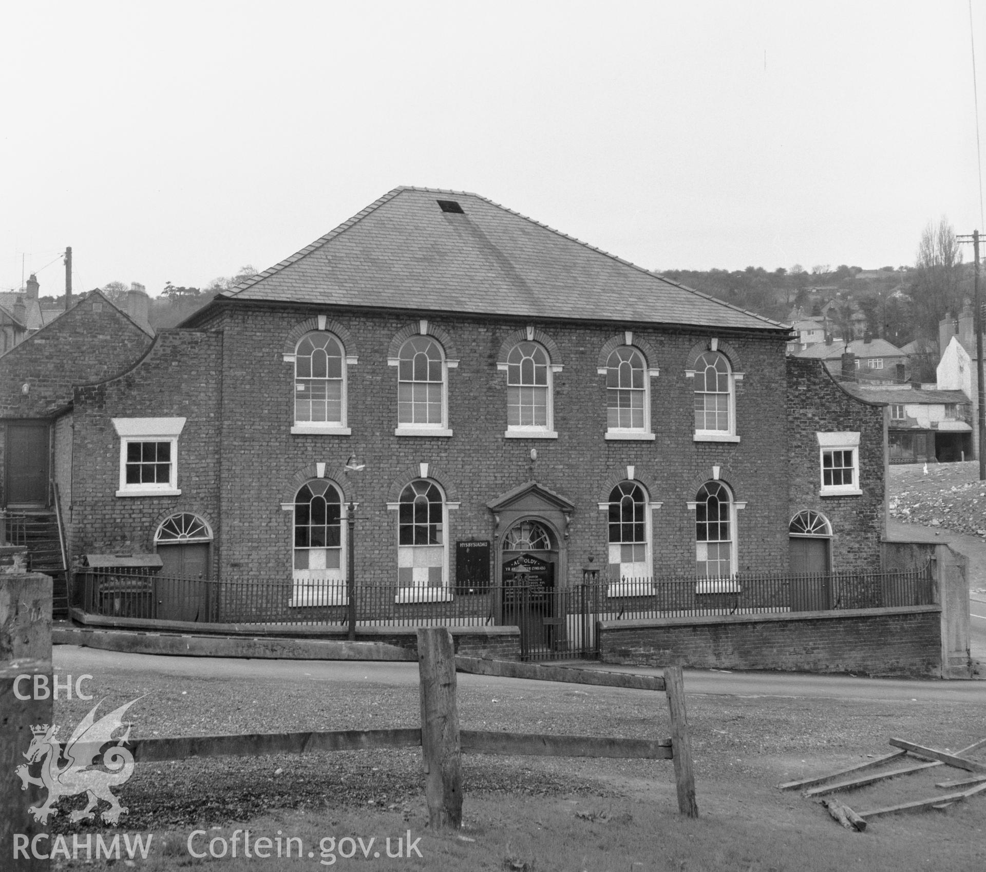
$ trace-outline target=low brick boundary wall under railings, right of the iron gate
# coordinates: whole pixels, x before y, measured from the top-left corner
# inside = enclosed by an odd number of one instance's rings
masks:
[[[599,621],[603,663],[939,677],[941,606]]]

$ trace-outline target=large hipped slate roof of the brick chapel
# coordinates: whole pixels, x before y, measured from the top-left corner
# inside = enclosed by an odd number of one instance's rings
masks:
[[[223,299],[789,330],[485,197],[417,187],[394,188]]]

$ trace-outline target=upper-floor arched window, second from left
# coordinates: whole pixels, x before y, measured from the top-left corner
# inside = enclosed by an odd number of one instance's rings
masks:
[[[447,427],[447,371],[442,346],[431,336],[412,336],[400,346],[397,356],[398,431]]]

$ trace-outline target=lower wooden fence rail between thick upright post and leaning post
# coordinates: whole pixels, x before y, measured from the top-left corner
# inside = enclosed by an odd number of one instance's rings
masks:
[[[517,757],[614,757],[670,760],[671,740],[608,739],[597,736],[544,736],[539,733],[495,733],[461,730],[465,754]]]

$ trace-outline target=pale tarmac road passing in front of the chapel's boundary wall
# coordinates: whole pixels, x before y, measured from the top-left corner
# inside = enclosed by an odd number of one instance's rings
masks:
[[[153,654],[123,654],[76,645],[57,645],[53,667],[60,675],[102,672],[134,672],[203,678],[251,678],[264,683],[299,677],[316,683],[360,683],[367,685],[417,685],[415,663],[365,663],[342,660],[239,660],[220,657],[165,657]],[[575,664],[571,664],[575,665]],[[611,672],[660,674],[660,670],[638,667],[579,663],[579,666]],[[487,676],[458,675],[463,687],[500,687],[522,681]],[[529,684],[529,683],[528,683]],[[819,676],[783,672],[719,672],[685,670],[688,694],[737,696],[783,696],[789,698],[893,699],[922,702],[986,703],[986,682],[868,679],[853,676]],[[582,690],[593,691],[583,685]],[[611,689],[605,689],[611,692]],[[626,692],[636,692],[628,690]]]

